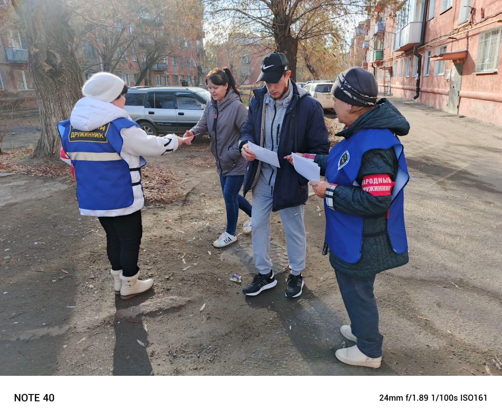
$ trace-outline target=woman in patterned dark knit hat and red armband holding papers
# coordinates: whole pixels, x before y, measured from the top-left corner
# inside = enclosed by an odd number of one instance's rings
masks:
[[[351,325],[340,328],[356,345],[336,351],[343,363],[380,367],[383,336],[373,296],[375,275],[408,262],[403,188],[408,170],[403,145],[410,125],[387,100],[377,102],[378,85],[360,67],[340,74],[331,91],[333,109],[345,128],[329,155],[313,159],[324,175],[310,182],[324,198],[323,254],[335,270]]]

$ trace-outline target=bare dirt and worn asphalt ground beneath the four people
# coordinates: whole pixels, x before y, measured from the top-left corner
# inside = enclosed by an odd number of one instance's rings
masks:
[[[128,301],[113,294],[104,232],[78,214],[69,177],[0,177],[0,373],[500,375],[500,127],[391,100],[412,125],[402,139],[410,263],[375,282],[385,337],[380,369],[334,357],[352,343],[339,332],[348,317],[321,255],[325,219],[316,196],[305,208],[301,297],[285,298],[287,270],[274,289],[241,293],[254,275],[250,236],[212,246],[225,214],[204,139],[147,159],[172,170],[183,194],[143,209],[139,264],[155,286]],[[18,134],[4,150],[38,140],[36,124],[11,131]],[[239,229],[246,220],[241,212]],[[276,269],[284,270],[278,214],[272,242]],[[242,284],[230,281],[234,272]]]

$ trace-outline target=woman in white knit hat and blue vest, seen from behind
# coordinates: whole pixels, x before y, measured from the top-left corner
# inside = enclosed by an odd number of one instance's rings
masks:
[[[139,280],[143,234],[143,156],[173,153],[184,141],[170,134],[149,136],[124,110],[127,85],[111,73],[96,73],[70,119],[58,124],[63,160],[71,160],[82,216],[96,216],[106,232],[115,294],[122,299],[147,292],[153,280]],[[69,163],[69,162],[68,162]]]

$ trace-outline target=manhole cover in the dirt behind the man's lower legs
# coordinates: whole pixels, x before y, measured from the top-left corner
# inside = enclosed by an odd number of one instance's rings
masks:
[[[223,259],[234,260],[238,266],[243,266],[245,272],[250,274],[257,274],[258,270],[255,267],[255,260],[253,259],[253,244],[245,242],[238,244],[230,250],[227,250]],[[288,268],[288,252],[281,246],[270,243],[270,258],[272,260],[272,270],[274,274],[281,274]],[[246,274],[246,273],[239,273]]]

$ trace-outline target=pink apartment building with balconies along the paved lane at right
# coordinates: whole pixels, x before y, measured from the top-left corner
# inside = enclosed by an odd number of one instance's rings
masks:
[[[502,1],[406,0],[374,12],[366,68],[382,95],[502,125]]]

